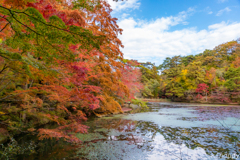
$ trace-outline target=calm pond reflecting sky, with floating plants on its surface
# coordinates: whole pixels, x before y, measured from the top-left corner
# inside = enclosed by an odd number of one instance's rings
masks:
[[[240,159],[239,106],[151,103],[148,112],[94,118],[86,125],[89,133],[78,134],[81,145],[42,142],[47,149],[18,158]]]

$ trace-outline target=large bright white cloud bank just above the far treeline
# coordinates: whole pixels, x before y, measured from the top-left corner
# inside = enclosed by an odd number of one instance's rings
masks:
[[[200,31],[196,28],[169,31],[171,26],[185,24],[191,12],[190,9],[175,17],[154,21],[137,21],[132,17],[121,20],[119,26],[123,34],[119,38],[125,46],[124,57],[159,64],[166,57],[201,53],[240,37],[240,22],[223,21]]]

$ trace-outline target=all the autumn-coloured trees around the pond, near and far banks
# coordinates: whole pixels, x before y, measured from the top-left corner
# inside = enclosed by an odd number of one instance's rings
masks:
[[[105,0],[0,2],[2,139],[33,133],[79,142],[73,133],[87,133],[82,122],[88,116],[122,113],[139,92],[173,101],[240,102],[239,41],[155,66],[123,58],[122,29]],[[48,123],[58,127],[43,127]]]

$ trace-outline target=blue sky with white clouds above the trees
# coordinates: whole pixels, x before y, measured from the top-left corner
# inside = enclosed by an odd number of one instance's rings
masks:
[[[108,0],[123,29],[126,59],[159,65],[166,57],[214,49],[240,38],[240,0]]]

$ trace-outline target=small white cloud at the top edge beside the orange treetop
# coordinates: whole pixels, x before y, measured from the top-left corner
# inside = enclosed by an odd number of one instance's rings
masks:
[[[107,0],[108,3],[111,5],[111,8],[115,12],[119,12],[125,9],[138,9],[141,3],[139,0],[119,0],[118,2],[113,0]]]

